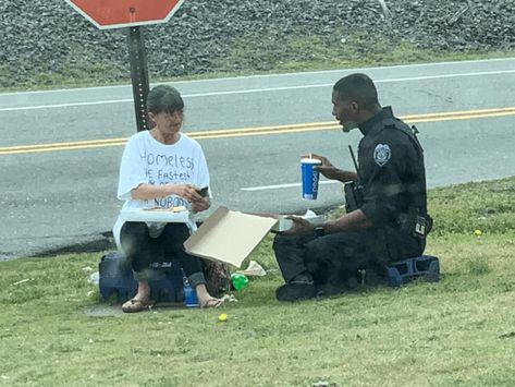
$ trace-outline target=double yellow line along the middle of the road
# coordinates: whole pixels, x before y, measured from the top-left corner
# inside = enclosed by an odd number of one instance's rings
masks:
[[[503,116],[515,116],[515,107],[449,111],[449,112],[438,112],[438,113],[408,114],[408,116],[402,116],[400,118],[408,123],[417,123],[417,122],[439,122],[439,121],[451,121],[451,120],[469,120],[469,119],[503,117]],[[340,125],[335,121],[326,121],[326,122],[291,123],[291,124],[283,124],[283,125],[270,125],[270,126],[222,129],[222,130],[213,130],[213,131],[197,131],[197,132],[189,132],[187,134],[192,138],[207,140],[207,138],[241,137],[241,136],[250,136],[250,135],[308,132],[308,131],[324,131],[324,130],[331,130],[331,129],[338,129],[338,128],[340,128]],[[106,140],[63,142],[63,143],[4,146],[4,147],[0,147],[0,155],[121,146],[121,145],[124,145],[126,141],[127,141],[126,137],[118,137],[118,138],[106,138]]]

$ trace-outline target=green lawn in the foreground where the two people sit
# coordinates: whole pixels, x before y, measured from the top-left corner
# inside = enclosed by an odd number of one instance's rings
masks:
[[[0,385],[512,386],[514,189],[510,178],[430,191],[441,280],[398,290],[283,304],[272,271],[222,310],[91,316],[100,253],[0,263]],[[270,244],[248,259],[277,268]]]

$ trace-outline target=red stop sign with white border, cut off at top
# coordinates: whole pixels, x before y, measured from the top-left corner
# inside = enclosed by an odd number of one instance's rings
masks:
[[[184,0],[66,0],[100,29],[164,23]]]

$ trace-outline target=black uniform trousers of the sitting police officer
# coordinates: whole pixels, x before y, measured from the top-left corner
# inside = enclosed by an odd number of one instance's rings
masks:
[[[318,238],[278,234],[273,250],[286,282],[307,271],[315,285],[352,283],[360,280],[361,269],[377,277],[384,273],[388,262],[421,253],[417,243],[393,241],[382,229],[336,232]]]

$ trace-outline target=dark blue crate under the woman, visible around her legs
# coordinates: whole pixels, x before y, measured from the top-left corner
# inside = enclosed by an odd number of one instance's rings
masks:
[[[149,280],[150,298],[155,301],[183,302],[183,273],[176,262],[154,264],[156,279]],[[136,294],[137,282],[128,262],[117,252],[109,253],[98,265],[99,289],[103,300],[115,293],[124,302]]]

